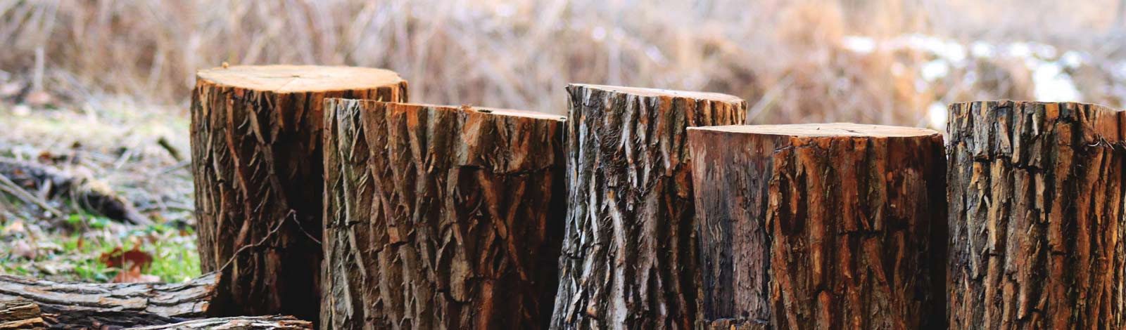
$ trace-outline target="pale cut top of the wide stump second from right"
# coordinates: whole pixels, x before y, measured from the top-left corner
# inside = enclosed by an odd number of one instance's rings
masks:
[[[794,123],[794,125],[731,125],[689,127],[689,130],[712,130],[796,137],[913,137],[930,136],[938,131],[902,126],[865,125],[851,122]]]

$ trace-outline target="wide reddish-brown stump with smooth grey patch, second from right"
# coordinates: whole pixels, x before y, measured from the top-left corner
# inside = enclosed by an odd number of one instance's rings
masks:
[[[945,329],[940,134],[726,126],[688,143],[704,328]]]

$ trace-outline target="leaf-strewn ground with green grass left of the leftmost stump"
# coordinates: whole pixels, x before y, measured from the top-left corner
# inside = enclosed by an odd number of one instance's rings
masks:
[[[27,89],[0,85],[0,98],[18,90]],[[108,186],[153,224],[108,219],[42,186],[17,184],[37,201],[0,194],[0,274],[87,282],[180,282],[199,274],[186,111],[111,98],[83,106],[50,95],[19,99],[0,101],[0,159]]]

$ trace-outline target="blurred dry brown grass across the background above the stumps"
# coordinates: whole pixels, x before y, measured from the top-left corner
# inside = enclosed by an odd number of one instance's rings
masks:
[[[932,56],[856,54],[842,37],[1034,39],[1101,57],[1123,44],[1118,1],[978,2],[0,1],[0,70],[34,81],[43,67],[45,88],[79,104],[125,94],[182,109],[197,68],[316,63],[395,70],[426,102],[561,112],[562,86],[591,82],[731,93],[759,122],[915,126],[936,101],[1027,98],[1027,73],[993,65],[1001,86],[920,88],[913,68]],[[1087,101],[1115,102],[1091,81]]]

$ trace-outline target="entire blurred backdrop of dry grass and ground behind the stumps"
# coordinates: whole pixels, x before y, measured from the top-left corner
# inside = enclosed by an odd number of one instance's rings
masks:
[[[224,62],[386,67],[428,103],[562,113],[563,86],[586,82],[734,94],[758,123],[942,129],[954,101],[1121,108],[1124,15],[1123,0],[3,0],[0,156],[104,182],[158,224],[0,200],[0,271],[108,281],[120,269],[71,264],[137,247],[157,255],[146,273],[197,273],[188,94]],[[166,244],[138,238],[153,235]]]

